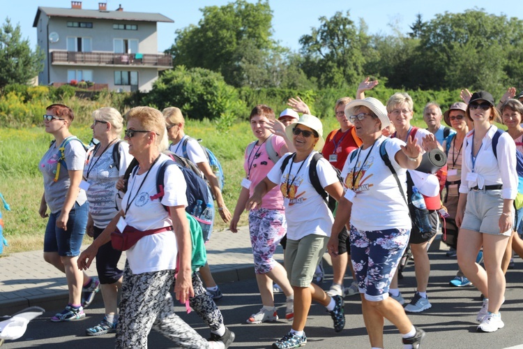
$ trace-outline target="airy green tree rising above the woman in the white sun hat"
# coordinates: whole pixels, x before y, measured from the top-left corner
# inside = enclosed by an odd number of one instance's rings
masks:
[[[317,79],[320,87],[355,84],[363,76],[365,52],[368,50],[367,27],[358,26],[341,12],[333,17],[319,17],[319,28],[300,38],[303,71]]]

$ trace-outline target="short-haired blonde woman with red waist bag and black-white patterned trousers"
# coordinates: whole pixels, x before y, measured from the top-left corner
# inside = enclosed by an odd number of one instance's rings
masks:
[[[134,107],[126,120],[129,154],[138,165],[128,179],[122,209],[82,252],[78,265],[88,268],[98,248],[111,241],[111,232],[134,230],[130,234],[141,237],[126,250],[115,348],[147,348],[151,328],[173,341],[176,348],[225,348],[222,341],[203,339],[174,313],[169,289],[175,274],[174,292],[181,304],[195,293],[185,179],[176,165],[165,168],[163,196],[158,195],[158,170],[169,161],[160,154],[165,118],[154,108]]]

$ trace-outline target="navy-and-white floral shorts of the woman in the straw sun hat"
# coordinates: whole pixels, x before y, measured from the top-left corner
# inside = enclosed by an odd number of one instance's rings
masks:
[[[351,225],[351,261],[358,288],[365,299],[385,299],[405,248],[409,229],[363,231]]]

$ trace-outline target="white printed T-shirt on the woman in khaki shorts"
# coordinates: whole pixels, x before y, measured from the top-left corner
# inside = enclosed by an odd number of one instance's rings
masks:
[[[291,240],[299,240],[312,234],[331,236],[333,215],[309,179],[310,161],[314,153],[316,151],[313,151],[305,161],[298,163],[290,159],[282,172],[283,160],[291,155],[287,153],[267,174],[270,181],[280,184],[287,218],[287,238]],[[324,158],[317,163],[317,173],[319,183],[324,188],[338,181],[332,165]],[[288,193],[287,188],[289,188]]]

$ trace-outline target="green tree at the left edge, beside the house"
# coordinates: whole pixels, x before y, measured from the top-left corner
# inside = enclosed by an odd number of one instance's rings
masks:
[[[20,24],[10,19],[0,28],[0,88],[6,84],[27,84],[43,69],[42,51],[32,51],[29,39],[22,39]]]

